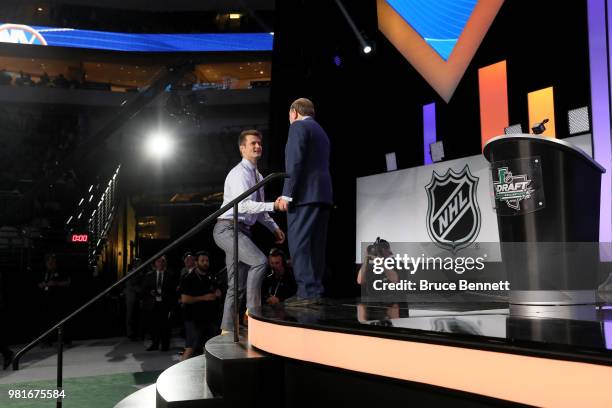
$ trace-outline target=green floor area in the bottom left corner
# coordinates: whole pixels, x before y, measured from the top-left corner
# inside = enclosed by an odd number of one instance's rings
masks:
[[[126,396],[143,385],[152,384],[160,371],[132,374],[110,374],[95,377],[68,378],[64,380],[66,408],[112,408]],[[0,407],[37,408],[55,407],[50,399],[10,399],[9,390],[53,390],[55,381],[36,381],[19,384],[0,384]]]

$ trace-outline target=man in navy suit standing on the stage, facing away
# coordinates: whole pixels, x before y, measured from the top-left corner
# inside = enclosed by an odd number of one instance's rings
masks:
[[[289,108],[285,148],[285,180],[278,207],[287,211],[289,251],[298,285],[298,299],[323,294],[327,222],[332,204],[329,138],[314,120],[314,105],[297,99]]]

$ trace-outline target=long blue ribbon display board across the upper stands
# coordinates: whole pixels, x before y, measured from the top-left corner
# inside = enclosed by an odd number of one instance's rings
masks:
[[[272,33],[129,34],[0,25],[0,42],[138,52],[272,51]]]

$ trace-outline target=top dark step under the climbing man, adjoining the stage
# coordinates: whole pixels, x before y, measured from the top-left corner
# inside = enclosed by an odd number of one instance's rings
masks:
[[[282,360],[256,350],[245,338],[216,336],[206,343],[206,381],[227,407],[259,407],[282,398]]]

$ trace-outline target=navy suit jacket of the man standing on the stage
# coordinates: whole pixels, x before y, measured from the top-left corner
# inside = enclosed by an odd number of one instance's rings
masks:
[[[283,195],[293,205],[332,203],[329,174],[329,138],[312,118],[297,120],[289,127],[285,147],[285,179]]]

